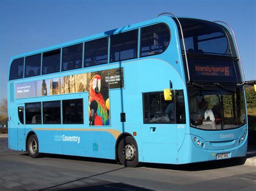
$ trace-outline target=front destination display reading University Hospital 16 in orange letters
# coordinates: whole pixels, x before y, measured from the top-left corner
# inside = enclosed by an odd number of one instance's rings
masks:
[[[192,81],[240,82],[237,61],[189,58]]]

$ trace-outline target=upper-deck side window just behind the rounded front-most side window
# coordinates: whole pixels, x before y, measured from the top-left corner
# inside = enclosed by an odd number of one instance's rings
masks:
[[[137,58],[138,30],[111,36],[111,62]]]

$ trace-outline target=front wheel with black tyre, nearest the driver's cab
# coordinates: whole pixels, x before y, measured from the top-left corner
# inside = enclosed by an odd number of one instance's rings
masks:
[[[122,165],[136,167],[139,165],[138,146],[132,137],[124,137],[118,144],[117,154]]]

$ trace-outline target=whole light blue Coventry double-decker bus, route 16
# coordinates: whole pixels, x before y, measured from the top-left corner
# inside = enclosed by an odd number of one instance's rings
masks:
[[[187,164],[247,150],[232,28],[172,13],[11,58],[9,148]]]

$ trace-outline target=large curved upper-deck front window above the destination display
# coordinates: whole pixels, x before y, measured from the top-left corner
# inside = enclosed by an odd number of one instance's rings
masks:
[[[230,34],[223,26],[198,19],[179,18],[179,20],[186,52],[235,56]]]

